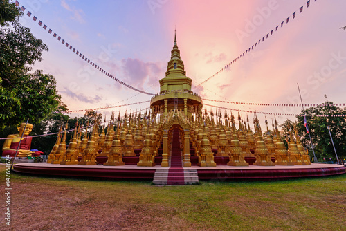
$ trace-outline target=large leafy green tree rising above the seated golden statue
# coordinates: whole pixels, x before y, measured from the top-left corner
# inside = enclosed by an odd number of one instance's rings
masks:
[[[19,24],[15,3],[0,1],[0,12],[0,129],[27,119],[35,124],[61,102],[54,77],[31,68],[48,48]]]

